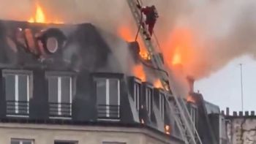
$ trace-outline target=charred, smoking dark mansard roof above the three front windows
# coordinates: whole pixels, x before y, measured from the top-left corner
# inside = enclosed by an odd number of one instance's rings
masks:
[[[59,45],[61,48],[56,53],[44,53],[44,59],[39,59],[38,53],[29,51],[25,32],[27,29],[31,31],[36,44],[37,35],[42,31],[58,29],[65,37],[63,45]],[[18,37],[18,32],[21,38]],[[101,30],[90,23],[64,25],[0,20],[0,68],[41,68],[76,72],[97,72],[102,67],[108,69],[111,50],[101,33]],[[31,49],[39,51],[37,47],[39,46]],[[118,61],[112,61],[118,67]]]

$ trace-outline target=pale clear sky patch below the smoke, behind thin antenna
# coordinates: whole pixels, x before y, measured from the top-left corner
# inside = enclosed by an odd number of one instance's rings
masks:
[[[219,105],[221,110],[230,107],[230,113],[241,111],[241,69],[243,73],[244,111],[256,110],[256,61],[242,56],[230,61],[223,69],[195,82],[206,101]]]

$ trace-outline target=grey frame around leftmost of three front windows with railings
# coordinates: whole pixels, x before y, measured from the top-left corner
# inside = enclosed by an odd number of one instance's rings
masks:
[[[2,70],[2,77],[4,77],[4,79],[6,80],[7,75],[12,75],[15,78],[15,83],[14,83],[14,87],[15,87],[15,113],[12,114],[8,114],[8,117],[29,117],[29,102],[31,97],[33,96],[33,72],[30,70],[20,70],[20,69],[3,69]],[[19,106],[18,106],[18,102],[19,102],[19,75],[25,75],[26,76],[26,102],[27,102],[27,112],[26,115],[23,115],[22,113],[19,113]],[[6,81],[4,80],[4,88],[6,88]],[[6,98],[6,94],[5,94],[5,98]],[[6,100],[7,102],[7,100]],[[24,101],[20,101],[20,102],[24,102]]]

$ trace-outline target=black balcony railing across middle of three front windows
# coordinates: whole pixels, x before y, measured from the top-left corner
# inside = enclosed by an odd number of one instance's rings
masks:
[[[72,115],[72,104],[50,102],[49,114],[50,114],[50,117],[70,118]]]

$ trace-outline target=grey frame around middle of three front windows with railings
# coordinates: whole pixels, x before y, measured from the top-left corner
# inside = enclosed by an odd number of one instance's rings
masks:
[[[48,83],[48,93],[49,93],[49,79],[50,78],[57,78],[57,107],[58,107],[58,113],[54,116],[50,116],[49,118],[55,119],[55,118],[61,118],[61,119],[71,119],[72,118],[72,99],[74,99],[75,93],[76,93],[76,73],[75,72],[58,72],[58,71],[48,71],[45,72],[45,78],[47,79]],[[63,77],[69,77],[69,117],[64,117],[61,115],[61,79]],[[49,102],[49,94],[48,94],[48,104]],[[50,105],[49,105],[50,106]],[[49,107],[50,108],[50,107]],[[49,112],[50,113],[50,112]]]

